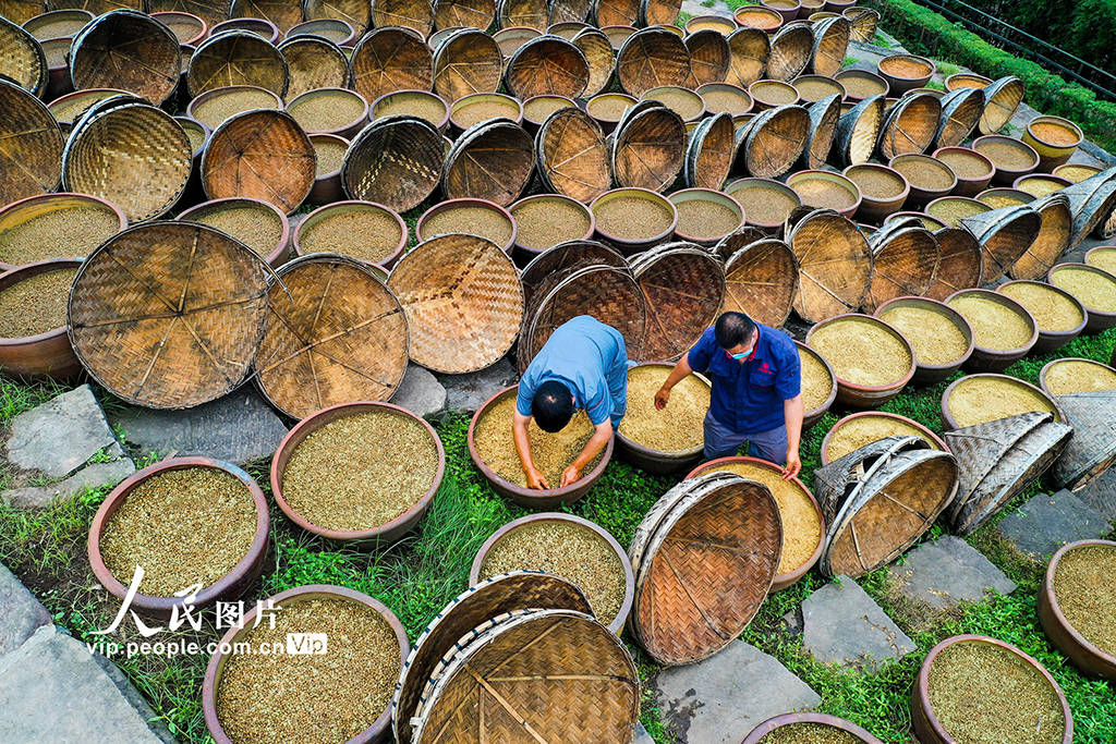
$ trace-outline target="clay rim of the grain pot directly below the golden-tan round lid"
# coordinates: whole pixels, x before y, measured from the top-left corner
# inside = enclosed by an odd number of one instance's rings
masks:
[[[308,519],[296,512],[287,500],[282,496],[282,473],[279,472],[279,457],[288,450],[294,453],[298,445],[302,444],[307,436],[316,432],[321,426],[333,423],[334,421],[339,421],[348,415],[356,415],[360,413],[366,413],[368,410],[393,410],[398,415],[405,416],[407,418],[414,419],[423,425],[426,433],[430,434],[434,442],[434,446],[437,450],[437,471],[434,473],[434,481],[431,483],[430,489],[426,493],[419,497],[415,503],[396,516],[395,519],[385,522],[378,526],[374,526],[369,530],[329,530],[319,526]],[[325,422],[321,419],[325,418]],[[442,477],[445,475],[445,448],[442,446],[442,439],[437,436],[434,427],[431,426],[426,419],[415,416],[413,413],[406,408],[392,405],[391,403],[378,403],[374,400],[362,400],[358,403],[339,403],[321,410],[310,414],[298,424],[291,428],[287,436],[282,438],[279,446],[276,448],[275,457],[271,458],[270,477],[271,477],[271,495],[275,496],[276,503],[279,504],[279,509],[282,513],[287,515],[291,522],[302,528],[307,532],[311,532],[319,537],[326,538],[327,540],[340,540],[340,541],[352,541],[352,540],[375,540],[379,535],[394,530],[401,524],[406,523],[408,520],[414,519],[417,514],[421,514],[430,505],[430,502],[434,499],[434,494],[437,492],[439,487],[442,485]]]

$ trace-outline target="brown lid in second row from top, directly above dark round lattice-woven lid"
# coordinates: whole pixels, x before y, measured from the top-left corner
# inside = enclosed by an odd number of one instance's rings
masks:
[[[434,57],[413,29],[375,28],[353,50],[353,89],[376,100],[393,90],[430,90]]]

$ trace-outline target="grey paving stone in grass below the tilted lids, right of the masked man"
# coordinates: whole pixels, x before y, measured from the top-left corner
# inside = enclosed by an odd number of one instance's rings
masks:
[[[887,574],[907,599],[936,610],[947,610],[961,602],[979,602],[989,590],[1010,595],[1016,582],[995,568],[992,561],[961,538],[945,535],[924,542],[892,564]]]

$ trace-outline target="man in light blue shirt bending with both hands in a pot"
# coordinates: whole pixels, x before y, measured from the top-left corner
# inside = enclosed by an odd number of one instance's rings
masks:
[[[555,329],[519,380],[512,434],[516,452],[532,489],[549,489],[531,460],[527,425],[531,418],[543,432],[560,432],[577,409],[596,427],[574,463],[561,474],[559,487],[581,477],[612,438],[627,408],[627,349],[612,326],[578,316]]]

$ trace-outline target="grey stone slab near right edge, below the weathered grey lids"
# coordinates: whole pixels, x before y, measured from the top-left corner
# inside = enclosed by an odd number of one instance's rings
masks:
[[[995,526],[1020,552],[1033,558],[1051,555],[1067,542],[1103,538],[1109,530],[1103,514],[1065,489],[1031,496]]]

